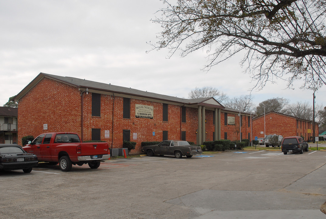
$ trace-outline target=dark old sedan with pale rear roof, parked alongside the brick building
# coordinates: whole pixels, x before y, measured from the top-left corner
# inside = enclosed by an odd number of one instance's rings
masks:
[[[157,154],[161,156],[174,155],[176,158],[192,157],[192,155],[202,153],[200,146],[192,146],[187,141],[180,140],[167,140],[158,145],[144,146],[141,151],[150,157]]]

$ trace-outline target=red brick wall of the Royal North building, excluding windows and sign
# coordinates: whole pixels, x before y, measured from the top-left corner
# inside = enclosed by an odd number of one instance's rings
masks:
[[[81,135],[81,91],[49,78],[43,78],[19,100],[19,141],[26,135],[36,137],[47,132],[76,132]],[[83,140],[92,139],[92,129],[101,129],[101,140],[107,141],[112,148],[122,148],[123,130],[130,130],[130,141],[136,142],[136,149],[131,153],[139,153],[141,142],[162,141],[163,131],[168,131],[169,139],[181,139],[181,131],[186,132],[186,140],[197,143],[198,109],[186,107],[186,122],[181,123],[181,106],[168,105],[168,121],[163,121],[163,104],[160,102],[130,99],[130,119],[123,118],[123,97],[101,94],[100,116],[92,116],[92,93],[83,94]],[[113,106],[114,104],[114,106]],[[154,118],[136,118],[135,104],[149,105],[154,108]],[[214,111],[206,110],[206,141],[213,140],[215,125]],[[112,116],[113,115],[113,116]],[[234,114],[236,117],[237,114]],[[239,120],[239,117],[236,117]],[[228,139],[235,140],[234,126],[224,126],[221,113],[221,138],[228,132]],[[112,122],[114,124],[112,129]],[[43,124],[48,125],[43,130]],[[247,117],[243,117],[242,133],[247,138],[250,131]],[[110,131],[105,138],[105,131]],[[155,135],[153,135],[155,132]],[[137,133],[137,139],[133,139]]]

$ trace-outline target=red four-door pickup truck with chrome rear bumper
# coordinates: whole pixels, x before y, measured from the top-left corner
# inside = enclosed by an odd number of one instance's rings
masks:
[[[29,141],[23,149],[37,155],[39,162],[59,163],[64,172],[70,171],[72,164],[88,164],[96,169],[101,162],[110,158],[107,142],[82,143],[77,133],[43,133]]]

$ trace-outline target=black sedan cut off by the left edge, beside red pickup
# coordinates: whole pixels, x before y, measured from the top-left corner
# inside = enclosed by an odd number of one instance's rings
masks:
[[[0,144],[0,169],[23,170],[30,173],[37,166],[37,156],[27,153],[22,146],[16,144]]]

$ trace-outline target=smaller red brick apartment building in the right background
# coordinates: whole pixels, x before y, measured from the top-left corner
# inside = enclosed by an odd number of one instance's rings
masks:
[[[304,140],[312,140],[313,121],[288,116],[282,113],[268,112],[265,115],[252,119],[253,136],[259,138],[269,134],[278,134],[283,137],[304,136]],[[315,136],[319,135],[319,128],[315,122]],[[264,129],[265,132],[264,132]]]

